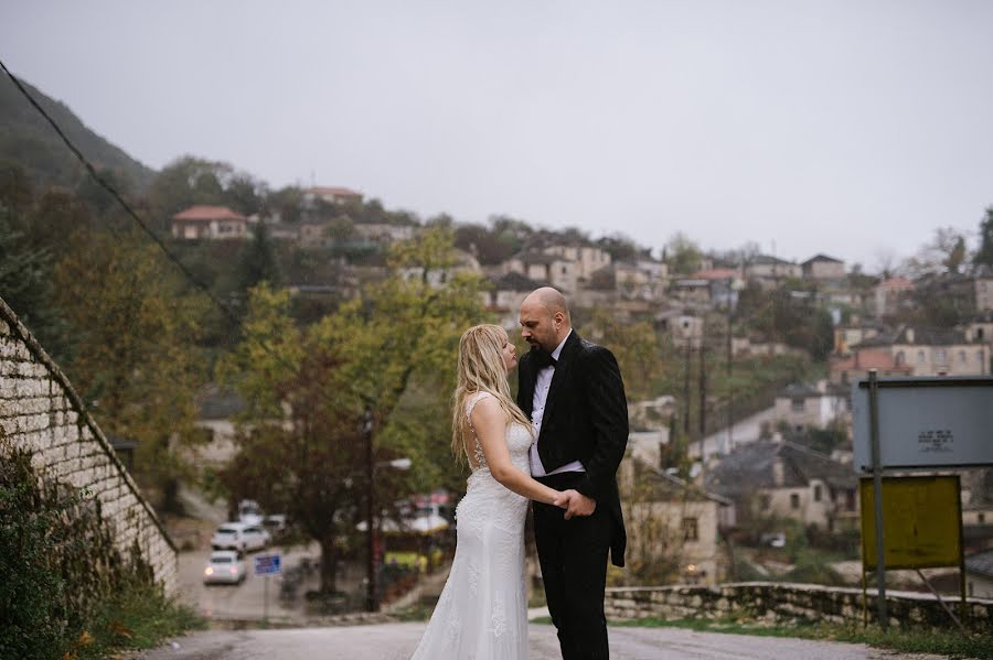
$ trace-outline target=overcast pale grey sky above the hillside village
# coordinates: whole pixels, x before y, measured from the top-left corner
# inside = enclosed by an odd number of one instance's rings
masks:
[[[161,167],[660,248],[909,256],[993,204],[993,2],[0,1],[0,56]]]

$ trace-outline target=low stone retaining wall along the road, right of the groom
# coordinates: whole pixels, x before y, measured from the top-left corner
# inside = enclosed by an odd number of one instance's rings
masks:
[[[960,601],[944,599],[955,616]],[[876,596],[866,596],[868,617],[876,620]],[[886,593],[890,626],[954,626],[948,613],[930,594]],[[663,619],[722,618],[736,613],[769,623],[798,619],[862,623],[862,589],[816,584],[745,582],[707,586],[611,587],[607,589],[608,618]],[[970,599],[967,617],[972,627],[993,630],[993,601]]]

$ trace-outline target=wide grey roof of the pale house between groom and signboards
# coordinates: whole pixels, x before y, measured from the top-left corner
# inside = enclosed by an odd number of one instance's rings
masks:
[[[773,465],[782,463],[782,484],[777,485]],[[758,441],[740,444],[707,470],[706,487],[735,498],[759,488],[803,488],[812,479],[851,488],[857,483],[851,466],[801,444]]]

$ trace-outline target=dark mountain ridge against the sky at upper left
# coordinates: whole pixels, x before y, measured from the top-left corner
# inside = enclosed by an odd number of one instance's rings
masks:
[[[148,187],[156,175],[154,170],[93,132],[65,104],[46,96],[23,78],[18,79],[97,171],[113,171],[132,193],[141,193]],[[49,122],[10,78],[0,74],[0,163],[4,162],[23,167],[35,185],[75,190],[86,174],[83,164]]]

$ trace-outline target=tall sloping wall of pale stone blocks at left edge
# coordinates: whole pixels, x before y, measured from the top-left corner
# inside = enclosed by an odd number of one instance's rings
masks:
[[[68,379],[2,300],[0,430],[32,453],[40,474],[97,498],[121,556],[137,541],[156,581],[175,593],[175,545]]]

